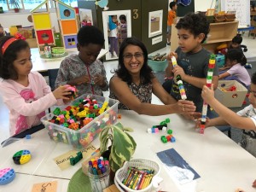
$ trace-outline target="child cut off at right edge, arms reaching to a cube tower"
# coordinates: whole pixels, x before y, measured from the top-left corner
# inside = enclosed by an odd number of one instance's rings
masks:
[[[204,86],[201,96],[219,115],[218,118],[207,119],[206,127],[231,125],[242,129],[240,145],[256,157],[256,73],[253,73],[252,75],[249,91],[250,95],[248,96],[248,99],[251,104],[237,113],[224,107],[224,105],[218,102],[218,100],[214,98],[214,91],[212,88],[210,90],[207,86]],[[197,121],[196,126],[198,126],[199,123],[200,120]]]

